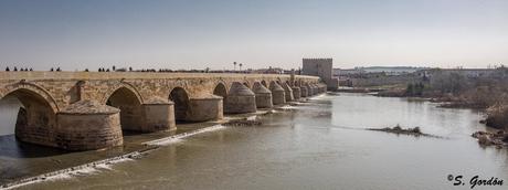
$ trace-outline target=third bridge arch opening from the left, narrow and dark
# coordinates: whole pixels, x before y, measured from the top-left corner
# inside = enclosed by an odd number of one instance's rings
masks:
[[[177,86],[170,91],[168,98],[174,103],[174,119],[186,120],[189,114],[189,93],[183,87]]]

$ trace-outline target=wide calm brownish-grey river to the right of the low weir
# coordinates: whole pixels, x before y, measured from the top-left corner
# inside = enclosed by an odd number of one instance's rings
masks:
[[[469,189],[474,176],[508,180],[508,151],[470,137],[486,129],[481,118],[423,101],[322,95],[258,117],[262,126],[199,134],[141,159],[22,189]],[[364,130],[398,124],[443,138]],[[454,187],[448,175],[465,184]]]

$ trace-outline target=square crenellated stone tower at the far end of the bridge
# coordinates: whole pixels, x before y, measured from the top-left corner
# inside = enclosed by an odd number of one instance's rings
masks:
[[[303,59],[303,64],[301,74],[321,77],[328,89],[339,87],[339,80],[332,76],[332,59]]]

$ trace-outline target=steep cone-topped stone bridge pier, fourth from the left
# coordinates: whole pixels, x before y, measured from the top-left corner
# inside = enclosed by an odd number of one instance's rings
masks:
[[[224,104],[227,114],[255,113],[255,94],[240,82],[233,82]]]

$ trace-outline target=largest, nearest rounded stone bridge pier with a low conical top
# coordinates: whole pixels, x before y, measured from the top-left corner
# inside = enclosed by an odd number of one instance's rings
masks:
[[[67,106],[56,115],[56,147],[93,150],[123,145],[119,113],[115,107],[92,101],[80,101]]]

